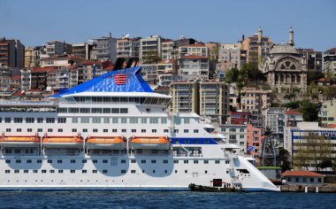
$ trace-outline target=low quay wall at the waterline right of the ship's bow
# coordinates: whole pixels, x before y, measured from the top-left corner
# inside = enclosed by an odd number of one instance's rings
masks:
[[[336,185],[281,185],[284,192],[313,192],[313,193],[336,193]]]

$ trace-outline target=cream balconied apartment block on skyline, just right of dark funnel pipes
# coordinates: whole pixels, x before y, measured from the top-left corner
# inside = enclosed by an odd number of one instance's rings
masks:
[[[157,63],[162,56],[162,42],[160,35],[150,35],[140,40],[140,60],[143,64]]]

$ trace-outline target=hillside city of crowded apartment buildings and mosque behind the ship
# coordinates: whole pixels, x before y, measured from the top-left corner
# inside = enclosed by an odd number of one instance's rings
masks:
[[[239,145],[241,155],[256,159],[256,166],[331,172],[336,48],[296,48],[292,27],[286,35],[288,43],[273,43],[258,28],[237,43],[202,43],[110,33],[86,43],[30,47],[2,37],[0,100],[47,99],[132,60],[157,93],[172,97],[172,114],[196,112]]]

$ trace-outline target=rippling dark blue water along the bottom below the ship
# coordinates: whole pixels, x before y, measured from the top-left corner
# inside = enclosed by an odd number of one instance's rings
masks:
[[[190,191],[11,191],[1,208],[335,208],[336,194]]]

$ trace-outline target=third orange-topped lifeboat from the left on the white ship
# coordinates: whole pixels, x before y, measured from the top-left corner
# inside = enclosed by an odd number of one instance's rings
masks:
[[[124,150],[126,143],[121,136],[89,136],[86,147],[92,150]]]

